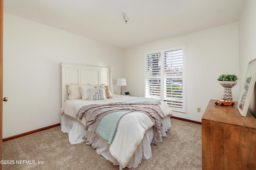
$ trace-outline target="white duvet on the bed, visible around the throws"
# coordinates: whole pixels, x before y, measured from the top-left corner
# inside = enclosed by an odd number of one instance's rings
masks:
[[[114,94],[113,98],[108,100],[67,100],[64,102],[64,106],[62,107],[62,113],[64,112],[66,115],[74,117],[86,125],[84,117],[81,120],[76,117],[76,112],[82,106],[89,104],[123,102],[134,98],[136,97]],[[165,117],[172,115],[172,111],[166,102],[161,101],[161,109],[165,114]],[[141,112],[131,112],[120,119],[116,136],[110,145],[110,153],[120,163],[120,169],[126,167],[137,146],[141,143],[144,133],[152,126],[154,126],[154,123],[151,121],[150,117]]]

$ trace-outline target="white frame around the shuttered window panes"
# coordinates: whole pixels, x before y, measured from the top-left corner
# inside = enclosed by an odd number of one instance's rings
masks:
[[[163,49],[158,49],[158,50],[154,50],[154,51],[147,51],[144,52],[144,97],[146,97],[146,84],[147,84],[147,79],[151,78],[151,79],[160,79],[160,100],[164,100],[165,96],[166,96],[166,92],[167,92],[167,86],[166,86],[166,82],[165,80],[168,79],[167,75],[164,75],[164,58],[165,58],[165,53],[168,51],[176,51],[176,50],[180,50],[182,49],[182,75],[179,77],[182,77],[182,108],[178,108],[178,107],[174,107],[169,105],[172,108],[172,111],[177,111],[177,112],[182,112],[182,113],[186,113],[186,44],[184,45],[177,45],[177,46],[173,46],[173,47],[168,47],[168,48],[163,48]],[[160,53],[160,74],[158,72],[158,75],[153,76],[147,76],[146,75],[146,71],[148,70],[148,68],[146,68],[147,63],[148,63],[148,55],[153,55],[153,54],[158,54]],[[153,72],[153,71],[152,71]],[[152,73],[153,74],[153,73]],[[173,78],[173,77],[172,77]],[[148,84],[147,84],[148,86]],[[166,89],[166,90],[165,90]]]

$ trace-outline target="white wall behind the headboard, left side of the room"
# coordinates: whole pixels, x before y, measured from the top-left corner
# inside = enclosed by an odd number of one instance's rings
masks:
[[[60,123],[60,62],[112,67],[115,84],[124,75],[123,56],[121,49],[4,13],[3,138]]]

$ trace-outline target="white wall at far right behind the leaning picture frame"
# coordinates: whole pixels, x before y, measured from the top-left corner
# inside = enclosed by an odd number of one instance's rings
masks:
[[[246,0],[239,18],[239,74],[240,92],[244,87],[248,63],[256,58],[256,1]],[[250,102],[249,111],[256,117],[256,89]]]

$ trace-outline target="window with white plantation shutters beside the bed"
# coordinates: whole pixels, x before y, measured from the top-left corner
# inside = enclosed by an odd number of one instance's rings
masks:
[[[163,100],[186,113],[186,45],[144,53],[146,98]]]

